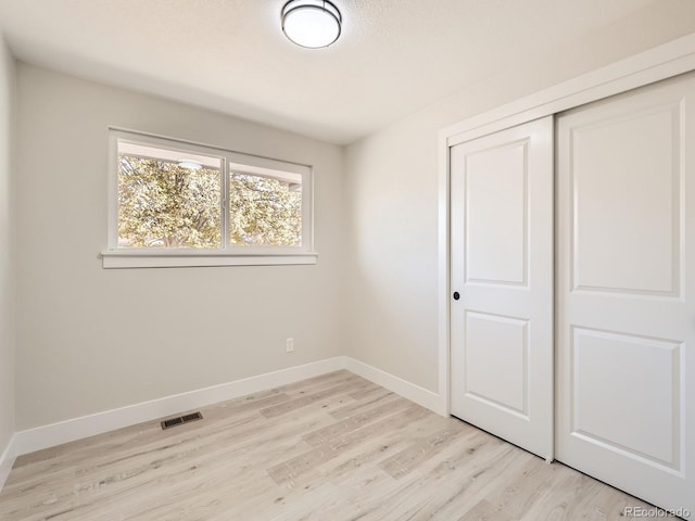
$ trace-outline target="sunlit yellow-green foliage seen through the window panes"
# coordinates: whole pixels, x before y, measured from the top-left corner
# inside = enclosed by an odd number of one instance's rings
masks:
[[[283,180],[231,173],[229,245],[300,245],[302,193]],[[218,169],[118,156],[118,244],[222,247]]]

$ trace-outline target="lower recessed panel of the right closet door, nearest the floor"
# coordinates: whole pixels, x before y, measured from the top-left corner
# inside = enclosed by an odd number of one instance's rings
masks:
[[[681,344],[577,327],[571,340],[572,432],[675,468]]]

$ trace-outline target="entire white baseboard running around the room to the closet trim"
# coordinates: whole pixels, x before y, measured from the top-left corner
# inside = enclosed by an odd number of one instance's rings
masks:
[[[20,431],[15,433],[0,460],[0,488],[16,456],[287,385],[341,369],[354,372],[437,414],[446,414],[443,399],[437,393],[349,356],[337,356],[304,366],[290,367],[257,377]]]

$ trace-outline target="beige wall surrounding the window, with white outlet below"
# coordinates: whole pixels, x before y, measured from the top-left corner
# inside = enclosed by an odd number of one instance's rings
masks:
[[[25,64],[17,77],[17,430],[342,352],[341,148]],[[318,264],[102,269],[109,126],[314,165]]]

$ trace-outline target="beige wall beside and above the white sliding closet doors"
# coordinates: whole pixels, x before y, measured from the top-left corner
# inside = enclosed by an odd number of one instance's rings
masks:
[[[695,2],[655,2],[348,147],[348,354],[438,392],[438,132],[695,29]],[[484,52],[484,50],[462,50]],[[455,66],[455,64],[452,64]],[[426,80],[418,78],[418,80]]]

